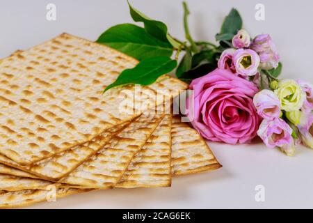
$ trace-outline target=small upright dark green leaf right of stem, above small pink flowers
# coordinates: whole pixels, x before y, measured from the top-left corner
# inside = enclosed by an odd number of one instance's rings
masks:
[[[230,14],[225,17],[220,33],[216,34],[216,40],[232,40],[234,35],[242,28],[242,19],[239,12],[232,8]]]

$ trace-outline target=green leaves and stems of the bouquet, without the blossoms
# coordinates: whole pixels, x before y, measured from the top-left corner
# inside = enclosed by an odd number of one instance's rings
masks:
[[[218,66],[221,53],[232,47],[232,38],[242,28],[239,12],[232,9],[225,17],[220,33],[216,34],[219,45],[207,41],[195,41],[188,26],[191,14],[187,3],[183,2],[183,26],[185,40],[172,37],[168,27],[161,21],[153,20],[129,4],[130,15],[136,24],[118,24],[104,31],[97,43],[108,45],[118,51],[134,57],[139,61],[135,68],[124,70],[115,82],[106,87],[107,91],[124,84],[148,85],[158,77],[175,70],[176,77],[190,83],[193,79],[207,75]],[[179,58],[182,55],[182,59]],[[280,74],[278,69],[262,70],[267,83]],[[263,83],[262,83],[263,84]]]

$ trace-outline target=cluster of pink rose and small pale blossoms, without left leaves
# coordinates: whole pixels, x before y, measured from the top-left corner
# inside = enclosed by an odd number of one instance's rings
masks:
[[[252,39],[240,29],[217,64],[190,84],[195,91],[191,123],[203,137],[236,144],[258,135],[269,148],[290,156],[297,144],[313,148],[313,86],[278,79],[282,63],[270,35]]]

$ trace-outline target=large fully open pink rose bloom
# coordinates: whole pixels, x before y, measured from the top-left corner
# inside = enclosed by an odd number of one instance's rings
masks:
[[[252,101],[258,91],[255,84],[217,68],[194,79],[190,89],[194,91],[193,105],[187,105],[188,118],[202,137],[236,144],[256,136],[261,117]]]

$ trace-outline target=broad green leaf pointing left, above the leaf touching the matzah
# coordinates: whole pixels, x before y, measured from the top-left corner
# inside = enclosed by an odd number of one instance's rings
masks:
[[[108,45],[139,61],[154,56],[171,56],[173,48],[134,24],[118,24],[102,33],[97,43]]]

